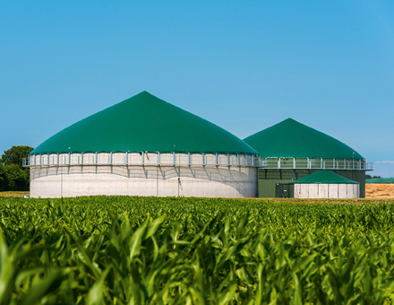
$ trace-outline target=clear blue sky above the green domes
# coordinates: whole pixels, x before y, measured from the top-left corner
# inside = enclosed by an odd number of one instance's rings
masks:
[[[241,138],[294,118],[394,177],[394,1],[0,2],[0,153],[142,91]]]

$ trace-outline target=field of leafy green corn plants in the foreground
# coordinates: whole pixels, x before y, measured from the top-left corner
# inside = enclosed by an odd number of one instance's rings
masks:
[[[394,205],[0,197],[0,304],[392,304]]]

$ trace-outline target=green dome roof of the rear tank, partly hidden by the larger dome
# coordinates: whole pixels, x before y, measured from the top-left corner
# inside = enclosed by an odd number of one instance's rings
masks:
[[[364,160],[347,144],[292,118],[250,135],[244,142],[261,158],[327,158]]]

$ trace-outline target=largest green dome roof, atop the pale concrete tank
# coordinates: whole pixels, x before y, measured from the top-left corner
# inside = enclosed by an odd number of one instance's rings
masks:
[[[257,154],[236,135],[148,92],[64,128],[30,154],[174,151]]]

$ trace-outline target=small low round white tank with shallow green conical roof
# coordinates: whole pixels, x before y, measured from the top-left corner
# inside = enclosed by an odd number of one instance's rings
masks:
[[[294,184],[295,198],[359,198],[360,184],[339,176],[331,170],[318,170],[313,174],[290,182]]]

